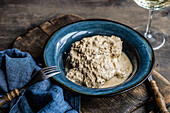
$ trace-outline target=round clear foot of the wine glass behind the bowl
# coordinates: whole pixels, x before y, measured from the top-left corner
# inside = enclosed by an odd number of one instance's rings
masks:
[[[134,29],[141,33],[149,41],[153,50],[157,50],[165,44],[165,35],[153,27],[150,28],[150,33],[147,35],[145,34],[146,26],[138,26]]]

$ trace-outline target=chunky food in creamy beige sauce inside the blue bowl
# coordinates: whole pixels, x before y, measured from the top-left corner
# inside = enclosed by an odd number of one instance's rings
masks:
[[[66,77],[91,88],[112,87],[124,82],[132,73],[132,64],[122,52],[122,41],[115,36],[93,36],[72,44],[71,64]]]

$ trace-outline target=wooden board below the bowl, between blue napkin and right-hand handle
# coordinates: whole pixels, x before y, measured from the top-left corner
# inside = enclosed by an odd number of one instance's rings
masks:
[[[82,97],[83,113],[125,113],[134,110],[134,107],[142,106],[148,99],[146,84],[112,97]],[[140,104],[140,105],[139,105]],[[137,108],[138,108],[137,107]],[[136,108],[136,109],[137,109]]]

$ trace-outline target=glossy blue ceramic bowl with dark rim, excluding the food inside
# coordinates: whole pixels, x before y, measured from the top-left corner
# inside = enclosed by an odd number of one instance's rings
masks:
[[[65,61],[72,43],[94,35],[115,35],[123,41],[123,51],[133,65],[133,72],[122,84],[109,88],[88,88],[77,85],[66,78]],[[67,25],[50,38],[44,49],[46,66],[57,66],[60,74],[53,78],[61,86],[85,95],[119,94],[140,85],[152,71],[154,53],[148,41],[135,30],[118,22],[91,19]]]

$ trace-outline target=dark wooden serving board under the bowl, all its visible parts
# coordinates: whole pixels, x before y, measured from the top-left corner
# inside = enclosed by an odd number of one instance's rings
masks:
[[[42,52],[42,47],[40,47],[40,45],[43,46],[44,44],[42,41],[45,42],[48,36],[50,37],[51,34],[53,34],[53,32],[60,29],[61,27],[67,24],[70,24],[72,22],[82,20],[82,19],[83,19],[82,17],[76,16],[76,15],[61,15],[57,18],[53,18],[50,21],[47,21],[41,24],[40,27],[36,27],[33,30],[30,30],[28,33],[26,33],[26,35],[19,37],[14,42],[13,47],[15,48],[19,47],[18,49],[21,49],[22,51],[27,51],[32,56],[37,57],[40,54],[37,52],[37,49],[38,51]],[[37,37],[36,33],[38,33],[40,36]],[[42,36],[45,37],[44,38],[45,40],[41,40]],[[39,44],[40,42],[41,44]],[[36,49],[34,49],[31,47],[31,45],[34,45],[34,48],[35,48],[35,45],[39,45],[37,46],[39,48],[36,47]],[[170,89],[170,84],[159,73],[154,71],[154,73],[152,74],[154,76],[154,79],[158,81],[158,86],[161,89],[160,92],[163,93],[163,96],[166,98],[166,103],[167,104],[170,103],[168,99],[170,90],[167,90],[167,89]],[[150,95],[150,91],[148,91],[149,89],[147,87],[148,87],[147,82],[145,82],[141,84],[140,86],[136,87],[135,89],[130,90],[120,95],[109,96],[109,97],[82,96],[81,111],[83,113],[96,113],[96,112],[119,113],[119,112],[136,111],[138,108],[144,106],[148,102],[154,101],[151,98],[152,95]],[[152,106],[154,106],[154,104]],[[152,106],[150,106],[150,109],[147,109],[147,112],[151,110],[156,110],[156,108]]]

